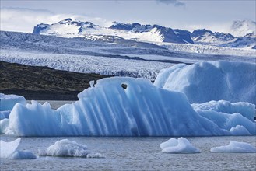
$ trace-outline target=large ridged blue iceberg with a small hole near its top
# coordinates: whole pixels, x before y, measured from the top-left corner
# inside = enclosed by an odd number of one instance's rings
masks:
[[[236,135],[242,129],[256,134],[250,116],[212,110],[223,120],[216,124],[216,118],[196,112],[183,93],[157,88],[148,79],[100,79],[78,97],[58,110],[52,110],[49,103],[18,103],[9,119],[1,120],[2,132],[19,136],[206,136]]]

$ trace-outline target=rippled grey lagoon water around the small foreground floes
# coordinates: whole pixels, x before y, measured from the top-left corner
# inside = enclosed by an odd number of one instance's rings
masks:
[[[16,137],[0,136],[3,141]],[[170,137],[65,137],[87,145],[91,152],[106,155],[105,159],[43,157],[30,160],[1,159],[2,170],[256,170],[256,153],[212,153],[210,148],[227,145],[230,140],[244,141],[256,146],[256,136],[193,137],[191,144],[201,150],[198,154],[165,154],[160,143]],[[25,137],[19,150],[35,155],[64,137]]]

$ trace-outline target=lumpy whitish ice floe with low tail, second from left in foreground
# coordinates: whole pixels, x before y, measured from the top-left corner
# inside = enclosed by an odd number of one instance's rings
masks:
[[[46,152],[40,152],[40,155],[48,155],[54,157],[82,157],[82,158],[105,158],[100,153],[92,154],[86,145],[81,145],[75,141],[62,139],[56,141],[46,149]]]

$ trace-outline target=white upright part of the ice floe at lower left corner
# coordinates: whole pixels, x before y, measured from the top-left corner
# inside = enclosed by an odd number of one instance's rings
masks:
[[[20,138],[17,138],[15,141],[10,142],[0,140],[0,158],[8,159],[12,155],[12,153],[16,152],[20,140]]]

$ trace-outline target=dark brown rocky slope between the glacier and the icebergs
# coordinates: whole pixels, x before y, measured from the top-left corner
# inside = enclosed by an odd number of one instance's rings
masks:
[[[0,61],[0,92],[26,99],[76,100],[89,81],[105,77]]]

